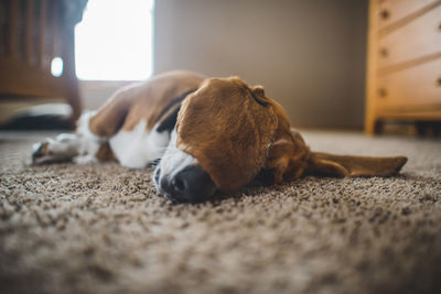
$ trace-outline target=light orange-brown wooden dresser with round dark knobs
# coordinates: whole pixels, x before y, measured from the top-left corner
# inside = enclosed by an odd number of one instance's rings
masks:
[[[441,1],[372,0],[367,133],[384,121],[441,121]]]

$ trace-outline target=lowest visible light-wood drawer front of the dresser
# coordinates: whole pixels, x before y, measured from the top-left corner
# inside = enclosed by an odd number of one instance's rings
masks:
[[[441,109],[441,58],[378,76],[377,107],[411,110]]]

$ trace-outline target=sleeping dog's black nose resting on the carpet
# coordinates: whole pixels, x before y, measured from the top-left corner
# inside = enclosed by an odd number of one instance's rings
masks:
[[[204,202],[216,190],[208,173],[200,165],[187,166],[172,178],[162,176],[159,187],[166,197],[178,203]]]

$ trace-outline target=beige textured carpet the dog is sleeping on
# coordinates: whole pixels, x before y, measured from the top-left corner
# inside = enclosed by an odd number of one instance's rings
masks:
[[[441,293],[441,142],[304,134],[409,162],[172,205],[151,171],[29,166],[40,137],[0,133],[0,292]]]

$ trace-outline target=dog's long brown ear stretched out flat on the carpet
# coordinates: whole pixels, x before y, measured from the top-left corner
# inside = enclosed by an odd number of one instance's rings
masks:
[[[405,156],[370,157],[312,152],[309,174],[333,176],[390,176],[407,162]]]

